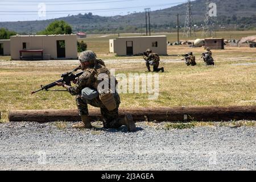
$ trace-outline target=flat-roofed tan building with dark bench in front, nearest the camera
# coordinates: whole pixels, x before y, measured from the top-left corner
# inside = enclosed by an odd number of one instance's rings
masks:
[[[11,59],[77,59],[76,35],[11,36]]]

